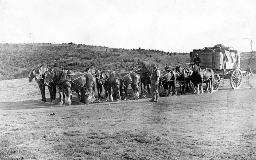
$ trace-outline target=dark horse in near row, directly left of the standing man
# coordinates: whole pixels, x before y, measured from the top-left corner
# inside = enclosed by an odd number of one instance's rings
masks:
[[[107,90],[111,87],[115,94],[115,100],[121,101],[120,86],[124,87],[125,97],[127,99],[127,86],[131,84],[133,94],[133,99],[139,98],[140,89],[138,84],[140,83],[140,76],[135,72],[126,72],[126,73],[115,73],[114,71],[102,71],[100,73],[100,81],[107,84]]]

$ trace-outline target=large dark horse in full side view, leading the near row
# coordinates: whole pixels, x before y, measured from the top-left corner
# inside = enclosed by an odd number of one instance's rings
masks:
[[[95,101],[95,93],[97,93],[96,79],[89,73],[50,69],[47,73],[45,82],[49,83],[51,81],[63,90],[66,95],[65,103],[67,105],[71,105],[71,90],[80,90],[81,100],[79,104],[89,104]],[[85,100],[86,91],[89,92],[89,97]]]

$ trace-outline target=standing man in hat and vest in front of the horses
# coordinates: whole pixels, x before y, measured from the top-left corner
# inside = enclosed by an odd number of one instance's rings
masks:
[[[160,78],[160,71],[157,69],[156,64],[153,64],[151,67],[152,67],[152,73],[151,73],[150,79],[151,79],[151,90],[152,90],[153,96],[150,102],[154,102],[155,99],[156,99],[156,102],[158,102],[158,98],[159,98],[158,83]]]

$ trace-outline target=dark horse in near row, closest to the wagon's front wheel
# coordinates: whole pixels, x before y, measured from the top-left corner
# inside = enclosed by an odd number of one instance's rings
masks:
[[[206,83],[206,90],[205,93],[209,92],[213,93],[213,83],[215,83],[214,72],[210,68],[201,69],[195,63],[190,64],[191,69],[193,70],[193,77],[194,77],[194,84],[197,90],[197,94],[199,94],[199,87],[200,87],[200,94],[203,93],[203,86],[202,83]]]

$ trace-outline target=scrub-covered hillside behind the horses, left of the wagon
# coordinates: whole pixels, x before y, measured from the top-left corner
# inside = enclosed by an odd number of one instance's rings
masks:
[[[28,77],[39,64],[84,72],[87,64],[101,69],[128,70],[143,63],[187,63],[188,53],[122,49],[83,44],[0,44],[0,80]]]

